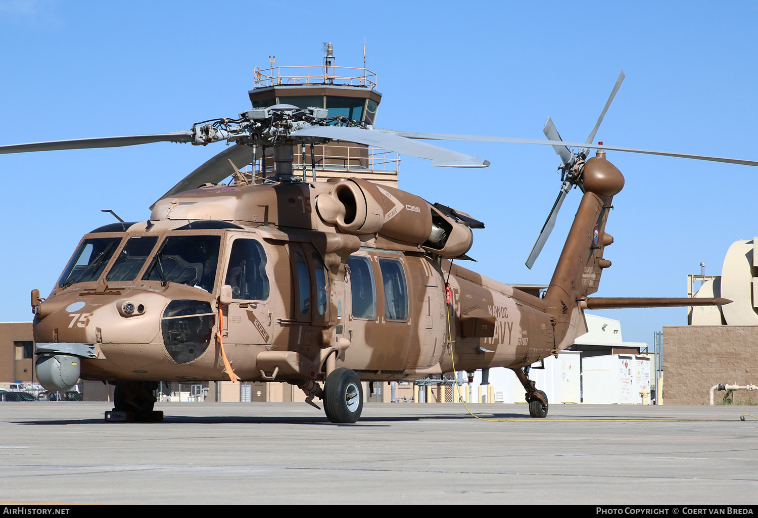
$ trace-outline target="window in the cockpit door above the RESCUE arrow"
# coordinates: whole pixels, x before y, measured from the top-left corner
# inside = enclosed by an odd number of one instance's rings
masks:
[[[237,239],[232,244],[224,284],[232,287],[235,299],[268,300],[266,253],[254,239]]]

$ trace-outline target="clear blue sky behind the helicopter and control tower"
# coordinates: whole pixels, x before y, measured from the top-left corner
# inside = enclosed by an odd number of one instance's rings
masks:
[[[254,67],[367,65],[377,126],[542,138],[548,115],[584,141],[618,76],[597,140],[758,159],[754,2],[63,2],[0,0],[0,143],[186,130],[249,108]],[[223,145],[155,143],[0,155],[0,320],[31,319],[29,293],[58,278],[87,231],[148,206]],[[572,191],[534,268],[525,259],[559,190],[546,146],[449,143],[487,169],[404,159],[400,187],[468,212],[468,265],[500,281],[550,280],[579,201]],[[626,177],[606,230],[600,297],[684,297],[688,273],[719,274],[758,233],[756,171],[609,152]],[[685,309],[600,312],[650,343]]]

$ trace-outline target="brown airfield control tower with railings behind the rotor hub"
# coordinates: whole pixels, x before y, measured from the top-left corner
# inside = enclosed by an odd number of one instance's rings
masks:
[[[324,63],[305,67],[255,67],[255,88],[249,91],[253,108],[295,105],[325,108],[328,117],[374,124],[381,93],[376,74],[365,67],[337,67],[331,43],[324,48]],[[264,176],[274,171],[273,149],[266,150]],[[366,144],[332,141],[327,144],[293,146],[293,174],[318,181],[360,177],[377,184],[397,187],[399,156],[396,152]]]

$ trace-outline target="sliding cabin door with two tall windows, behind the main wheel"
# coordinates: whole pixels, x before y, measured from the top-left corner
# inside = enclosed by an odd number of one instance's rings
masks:
[[[348,265],[346,366],[361,371],[406,369],[411,316],[403,256],[359,252],[350,256]]]

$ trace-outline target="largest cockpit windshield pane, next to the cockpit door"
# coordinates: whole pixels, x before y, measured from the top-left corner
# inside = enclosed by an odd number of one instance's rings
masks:
[[[143,281],[176,282],[212,291],[221,236],[167,237],[152,258]]]

